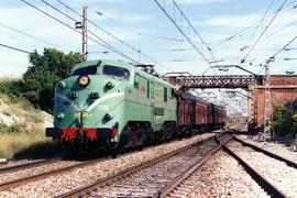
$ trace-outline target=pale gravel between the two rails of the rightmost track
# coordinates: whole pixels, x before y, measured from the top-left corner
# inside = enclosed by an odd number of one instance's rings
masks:
[[[228,145],[287,197],[297,197],[297,169],[238,142]]]

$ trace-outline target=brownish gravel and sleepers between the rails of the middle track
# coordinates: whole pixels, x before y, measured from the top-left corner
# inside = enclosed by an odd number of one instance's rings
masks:
[[[211,140],[113,182],[86,197],[153,197],[190,165],[202,158],[217,143]]]

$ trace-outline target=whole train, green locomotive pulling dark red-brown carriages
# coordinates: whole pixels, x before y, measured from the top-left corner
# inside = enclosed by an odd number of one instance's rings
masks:
[[[175,90],[153,67],[97,59],[55,86],[46,136],[73,151],[134,147],[222,128],[226,109]]]

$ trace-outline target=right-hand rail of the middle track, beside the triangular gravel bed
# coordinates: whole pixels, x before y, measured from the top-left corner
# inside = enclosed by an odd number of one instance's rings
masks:
[[[215,140],[218,139],[222,133],[216,135]],[[195,173],[199,167],[201,167],[209,158],[211,158],[218,151],[221,150],[222,145],[229,142],[232,136],[226,140],[223,143],[219,143],[217,147],[211,150],[205,157],[201,160],[198,160],[195,164],[190,165],[182,175],[179,175],[177,178],[175,178],[172,183],[169,183],[166,187],[164,187],[157,195],[155,195],[155,198],[163,198],[168,196],[178,185],[180,185],[187,177],[189,177],[193,173]]]

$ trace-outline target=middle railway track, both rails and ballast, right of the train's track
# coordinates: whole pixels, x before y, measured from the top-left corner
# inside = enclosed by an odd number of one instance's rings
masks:
[[[182,173],[201,166],[220,147],[213,138],[199,141],[58,197],[161,196],[168,184],[186,177]]]

